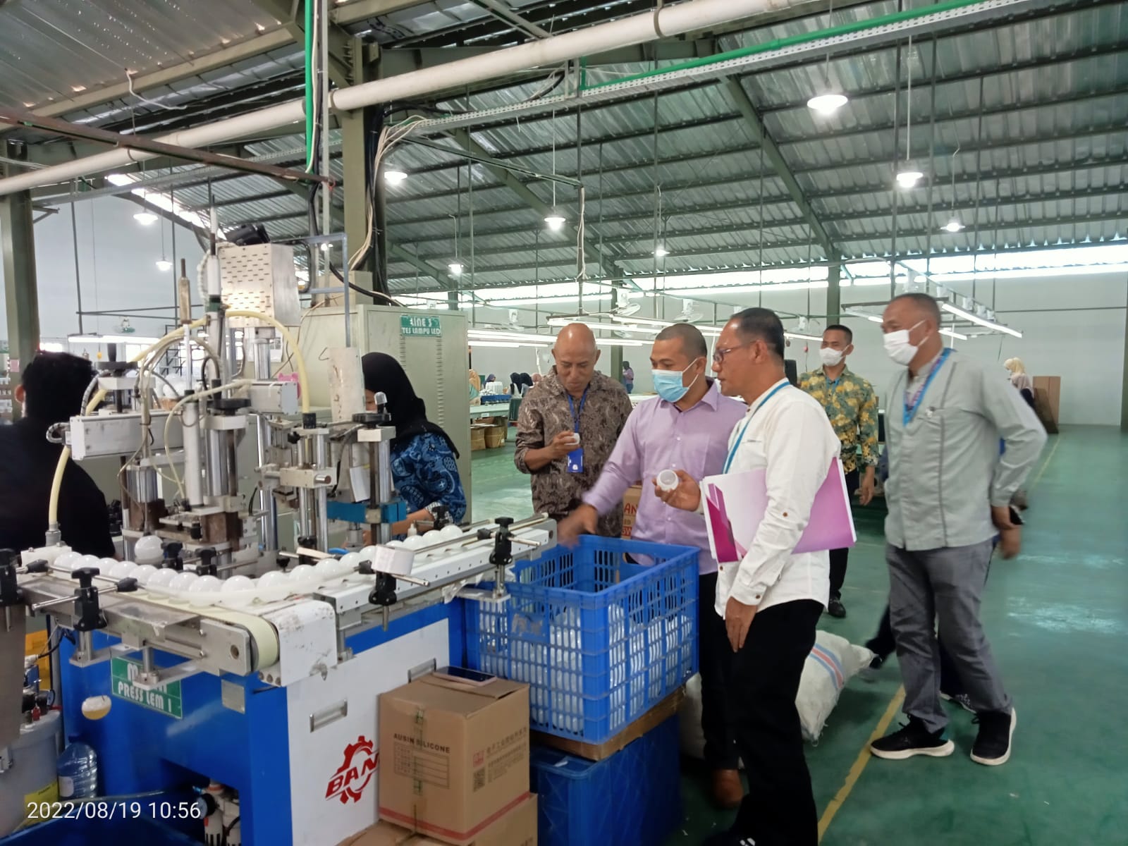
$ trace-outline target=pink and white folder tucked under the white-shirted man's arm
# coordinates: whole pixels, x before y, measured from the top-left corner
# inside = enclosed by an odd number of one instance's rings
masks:
[[[768,505],[764,469],[710,476],[702,483],[705,523],[717,563],[742,561]],[[796,553],[854,546],[857,534],[841,462],[830,462],[826,482],[814,495],[811,520],[795,545]]]

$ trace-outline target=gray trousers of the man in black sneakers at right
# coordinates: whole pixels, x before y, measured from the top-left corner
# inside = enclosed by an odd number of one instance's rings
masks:
[[[904,711],[922,720],[928,731],[948,724],[940,702],[937,619],[971,706],[977,712],[1011,708],[979,624],[992,548],[990,540],[923,552],[885,545],[889,618],[905,681]]]

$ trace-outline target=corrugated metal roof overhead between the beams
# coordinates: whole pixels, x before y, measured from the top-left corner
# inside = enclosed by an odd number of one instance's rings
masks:
[[[511,0],[510,6],[537,19],[553,15],[546,0]],[[347,7],[347,2],[338,6]],[[624,5],[600,7],[592,0],[567,8],[583,15],[562,14],[553,23],[555,32],[590,21],[596,14],[592,9],[602,8],[600,14],[611,18]],[[807,62],[749,73],[742,85],[805,199],[846,256],[883,255],[893,248],[918,253],[926,248],[1122,237],[1128,218],[1121,188],[1128,178],[1126,9],[1125,3],[1085,3],[1040,11],[1042,16],[1034,19],[1020,17],[943,34],[935,44],[931,38],[918,38],[911,49],[901,45],[899,69],[898,50],[889,46],[836,55],[828,64]],[[864,20],[893,10],[892,0],[854,6],[836,10],[834,23]],[[0,77],[0,99],[67,96],[71,85],[109,79],[120,74],[125,63],[143,70],[177,61],[191,50],[214,47],[221,38],[248,37],[262,17],[253,0],[197,0],[191,8],[184,7],[183,0],[91,0],[82,11],[86,17],[79,19],[65,0],[0,9],[0,67],[19,63],[29,50],[35,51],[33,60],[17,72]],[[47,23],[41,19],[44,17]],[[182,20],[188,17],[191,20]],[[56,28],[51,27],[51,20]],[[9,26],[11,21],[15,27]],[[503,25],[491,21],[493,18],[478,6],[456,0],[421,3],[364,19],[351,28],[390,47],[474,44],[491,38],[496,42],[497,34],[504,32]],[[723,35],[717,50],[816,32],[826,24],[826,15],[810,15]],[[59,61],[60,55],[74,51],[70,36],[62,35],[60,27],[85,39],[73,61]],[[129,34],[129,44],[120,44],[123,33]],[[14,59],[3,58],[3,53]],[[112,58],[112,65],[106,64],[106,56]],[[169,103],[176,98],[191,102],[206,97],[209,85],[214,94],[217,87],[283,79],[300,67],[300,50],[282,49],[204,80],[176,83],[160,96],[173,98]],[[622,78],[641,69],[640,64],[592,64],[589,82]],[[909,71],[914,81],[910,153],[926,178],[913,191],[895,193],[895,159],[905,158]],[[931,85],[934,72],[935,87]],[[435,105],[448,112],[477,111],[569,90],[571,80],[556,85],[553,74],[553,69],[544,69],[512,85],[448,96]],[[805,107],[807,98],[827,79],[852,97],[846,108],[829,118]],[[895,95],[895,89],[899,94]],[[83,115],[120,120],[127,105],[118,102]],[[472,134],[501,161],[571,177],[578,167],[576,132],[574,112],[557,112],[494,121],[475,127]],[[660,263],[667,272],[823,257],[821,246],[810,246],[811,231],[800,205],[774,173],[770,157],[764,158],[755,133],[723,83],[693,83],[663,92],[656,100],[656,113],[655,99],[649,95],[587,107],[580,118],[580,136],[590,273],[599,273],[594,259],[600,248],[605,270],[614,262],[627,273],[654,272],[659,195],[658,237],[671,253]],[[332,139],[340,143],[337,133]],[[459,257],[468,264],[473,206],[476,284],[518,284],[538,275],[547,280],[574,276],[574,231],[546,231],[540,213],[504,185],[492,168],[467,166],[453,149],[453,140],[432,140],[450,146],[451,151],[405,143],[391,152],[390,162],[409,174],[406,182],[388,191],[391,243],[408,245],[432,266],[442,268],[453,257],[457,224]],[[298,150],[301,158],[302,143],[300,135],[257,141],[247,147],[247,155]],[[334,161],[333,173],[343,178],[340,160]],[[467,174],[473,176],[473,196]],[[523,175],[518,178],[540,203],[554,202],[549,182]],[[279,184],[270,178],[220,179],[211,190],[222,203],[219,213],[224,224],[273,219],[267,229],[275,237],[301,233],[306,228],[303,199],[277,195]],[[362,186],[341,185],[335,196],[354,190]],[[208,191],[206,185],[182,188],[177,197],[204,205]],[[268,196],[261,199],[264,195]],[[574,223],[575,190],[557,186],[555,202],[570,226]],[[940,227],[953,214],[967,228],[942,232]],[[418,284],[418,271],[409,263],[393,261],[391,273],[400,277],[404,290]],[[424,279],[423,284],[433,287],[435,282]]]

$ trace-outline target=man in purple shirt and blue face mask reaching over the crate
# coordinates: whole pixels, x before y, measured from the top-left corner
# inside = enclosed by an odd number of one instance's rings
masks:
[[[561,522],[564,543],[581,531],[596,534],[600,514],[618,508],[631,485],[649,483],[661,470],[685,470],[694,478],[720,474],[733,426],[747,408],[721,396],[706,377],[708,346],[690,324],[673,324],[659,333],[650,355],[658,397],[640,403],[583,504]],[[643,492],[631,537],[654,544],[680,544],[700,549],[698,632],[702,675],[702,730],[705,761],[713,770],[713,797],[722,808],[735,808],[744,795],[737,769],[739,756],[729,728],[725,682],[732,647],[724,620],[717,616],[716,561],[700,514],[670,508],[652,490]]]

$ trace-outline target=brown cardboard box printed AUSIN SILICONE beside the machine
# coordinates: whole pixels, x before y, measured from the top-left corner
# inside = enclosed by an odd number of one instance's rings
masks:
[[[529,792],[529,686],[424,676],[380,696],[380,819],[456,846]]]

